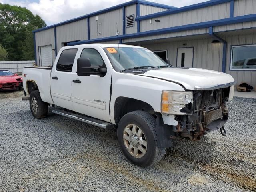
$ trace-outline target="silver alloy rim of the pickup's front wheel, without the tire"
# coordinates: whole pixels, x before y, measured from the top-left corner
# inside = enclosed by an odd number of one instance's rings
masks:
[[[124,145],[135,158],[142,158],[147,151],[147,140],[141,128],[128,124],[123,132]]]

